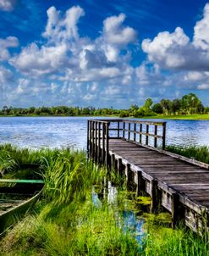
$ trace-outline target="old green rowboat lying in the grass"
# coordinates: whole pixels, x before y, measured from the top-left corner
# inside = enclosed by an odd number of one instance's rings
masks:
[[[34,206],[43,186],[42,180],[0,179],[0,236]]]

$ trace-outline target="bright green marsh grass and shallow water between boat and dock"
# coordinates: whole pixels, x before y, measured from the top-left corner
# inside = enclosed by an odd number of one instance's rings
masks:
[[[10,161],[6,165],[4,156]],[[37,164],[45,189],[36,208],[0,241],[0,255],[207,255],[207,237],[169,228],[170,214],[148,214],[150,198],[135,198],[124,181],[107,194],[107,173],[69,149],[0,147],[4,175]],[[112,198],[111,198],[112,197]],[[137,227],[137,228],[136,228]]]

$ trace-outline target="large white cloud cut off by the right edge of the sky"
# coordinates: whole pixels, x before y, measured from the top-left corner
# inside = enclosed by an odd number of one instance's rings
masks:
[[[209,4],[204,8],[203,18],[194,28],[194,38],[185,35],[182,28],[173,33],[160,32],[152,41],[142,42],[142,49],[151,63],[164,69],[209,70]]]

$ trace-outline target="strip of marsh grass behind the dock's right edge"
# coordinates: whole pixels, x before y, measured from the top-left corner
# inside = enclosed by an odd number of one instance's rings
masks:
[[[178,153],[187,158],[192,158],[197,161],[209,164],[209,147],[206,146],[191,146],[191,147],[176,147],[167,146],[166,149],[172,153]]]

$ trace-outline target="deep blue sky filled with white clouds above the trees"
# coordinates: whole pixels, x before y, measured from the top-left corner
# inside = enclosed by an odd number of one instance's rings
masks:
[[[209,3],[0,0],[0,108],[209,106]]]

